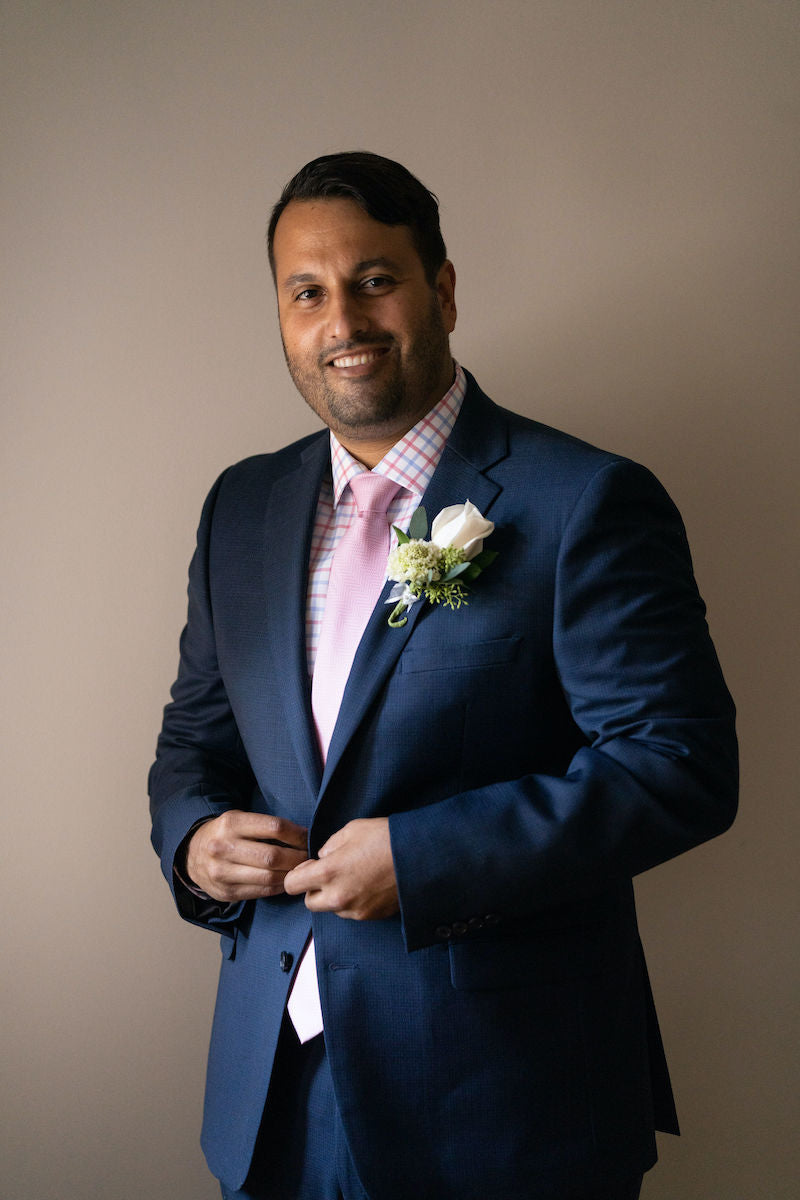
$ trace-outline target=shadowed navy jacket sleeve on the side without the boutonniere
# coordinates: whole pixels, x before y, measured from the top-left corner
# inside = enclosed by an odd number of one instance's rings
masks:
[[[175,865],[193,828],[227,809],[248,808],[254,786],[217,664],[209,587],[209,542],[223,478],[211,490],[200,517],[178,679],[149,776],[151,840],[178,911],[193,924],[217,930],[241,916],[243,905],[201,900],[182,883]]]

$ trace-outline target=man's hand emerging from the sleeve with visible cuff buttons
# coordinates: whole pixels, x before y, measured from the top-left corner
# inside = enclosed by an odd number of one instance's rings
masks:
[[[379,920],[399,908],[389,839],[389,818],[349,821],[329,838],[319,858],[301,863],[284,880],[289,895],[306,893],[312,912],[351,920]]]

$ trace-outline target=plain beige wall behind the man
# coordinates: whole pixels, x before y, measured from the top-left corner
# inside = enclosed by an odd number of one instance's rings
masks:
[[[366,146],[440,194],[464,364],[684,511],[744,791],[638,884],[685,1127],[644,1195],[795,1195],[796,6],[5,0],[2,41],[0,1192],[217,1195],[217,948],[144,776],[203,496],[314,427],[267,208]]]

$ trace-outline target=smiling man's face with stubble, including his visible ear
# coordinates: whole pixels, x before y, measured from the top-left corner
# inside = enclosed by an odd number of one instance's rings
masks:
[[[345,445],[399,439],[452,383],[452,265],[431,286],[410,230],[373,221],[344,197],[291,200],[273,256],[300,394]]]

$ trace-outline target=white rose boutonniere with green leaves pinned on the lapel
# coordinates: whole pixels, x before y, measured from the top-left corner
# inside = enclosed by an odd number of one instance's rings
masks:
[[[461,608],[468,604],[469,583],[498,557],[483,550],[483,540],[494,529],[492,521],[474,504],[451,504],[443,509],[431,527],[426,541],[428,515],[420,505],[403,533],[397,526],[397,546],[389,556],[386,577],[393,581],[386,604],[393,604],[389,624],[399,629],[408,620],[405,612],[417,602],[444,604]]]

